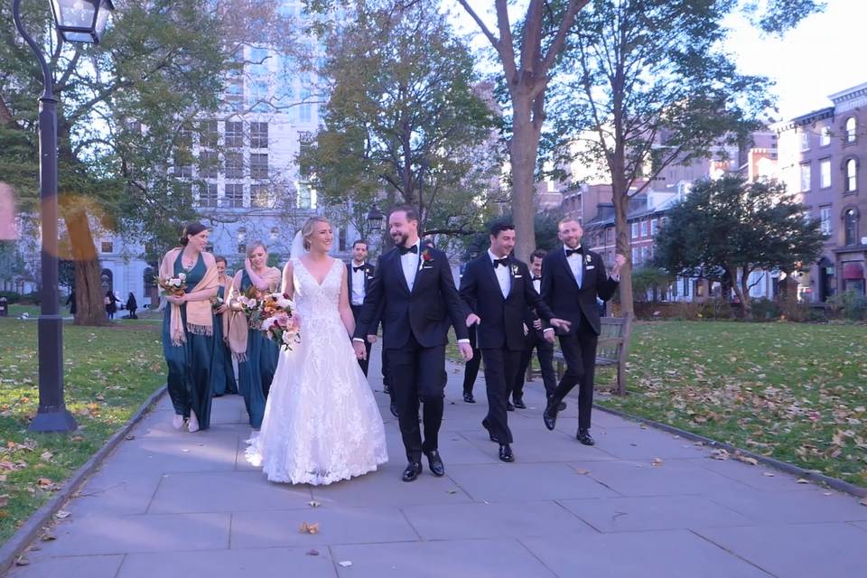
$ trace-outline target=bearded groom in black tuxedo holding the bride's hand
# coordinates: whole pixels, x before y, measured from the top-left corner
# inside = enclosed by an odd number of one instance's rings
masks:
[[[454,287],[448,257],[422,245],[414,208],[392,210],[388,227],[395,248],[379,257],[352,340],[358,358],[366,358],[365,340],[374,329],[371,322],[381,311],[388,382],[409,461],[403,480],[413,481],[422,472],[422,453],[433,475],[445,474],[438,435],[443,422],[445,345],[450,325],[463,359],[471,359],[472,350],[467,312]],[[424,403],[424,443],[418,424],[419,398]]]

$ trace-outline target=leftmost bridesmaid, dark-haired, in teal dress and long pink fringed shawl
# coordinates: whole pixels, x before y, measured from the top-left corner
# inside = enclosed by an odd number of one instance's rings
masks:
[[[184,275],[182,295],[167,295],[163,316],[163,354],[169,372],[166,385],[174,406],[172,425],[190,432],[210,426],[211,365],[214,359],[214,315],[210,299],[217,294],[217,264],[208,246],[209,231],[200,223],[183,230],[160,266],[165,280]]]

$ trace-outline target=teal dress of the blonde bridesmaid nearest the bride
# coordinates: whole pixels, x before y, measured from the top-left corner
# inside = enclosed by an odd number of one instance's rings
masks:
[[[247,271],[241,275],[241,292],[246,292],[253,282]],[[271,380],[277,368],[280,348],[275,341],[267,339],[261,331],[247,331],[247,360],[238,363],[238,391],[244,396],[250,425],[258,429],[265,416],[265,404]]]

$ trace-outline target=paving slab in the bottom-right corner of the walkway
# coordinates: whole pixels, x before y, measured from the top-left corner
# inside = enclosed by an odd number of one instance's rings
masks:
[[[855,578],[867,573],[867,533],[848,524],[788,524],[697,530],[769,573]]]

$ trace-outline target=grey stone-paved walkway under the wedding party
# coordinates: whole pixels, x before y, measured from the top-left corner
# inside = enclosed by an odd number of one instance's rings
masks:
[[[528,409],[509,415],[517,461],[499,462],[480,427],[483,380],[480,403],[464,404],[458,367],[441,435],[447,475],[434,478],[425,463],[419,480],[404,483],[396,420],[372,365],[391,457],[380,471],[329,487],[270,484],[244,461],[249,428],[238,396],[215,400],[212,428],[195,434],[172,430],[163,399],[66,506],[71,515],[57,539],[8,576],[867,573],[867,508],[857,499],[762,466],[709,459],[693,443],[601,411],[597,445],[584,447],[573,437],[572,400],[556,431],[545,430],[537,383],[527,385]],[[299,533],[304,522],[318,523],[319,533]]]

